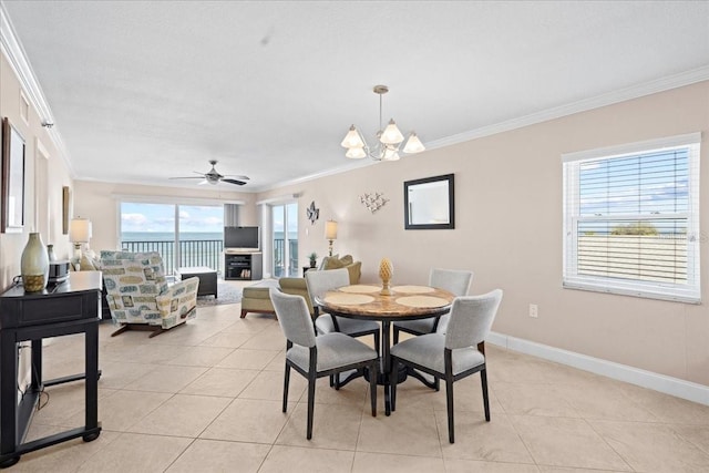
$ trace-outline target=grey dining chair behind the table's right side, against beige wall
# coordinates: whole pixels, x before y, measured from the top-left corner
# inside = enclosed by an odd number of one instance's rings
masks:
[[[431,273],[429,274],[429,286],[445,289],[454,296],[466,296],[472,280],[473,271],[431,268]],[[393,342],[399,343],[400,331],[415,336],[432,333],[434,331],[445,333],[450,317],[450,315],[445,315],[441,317],[431,317],[429,319],[394,322],[392,323]]]

